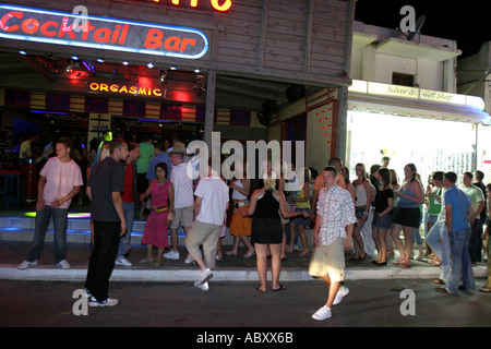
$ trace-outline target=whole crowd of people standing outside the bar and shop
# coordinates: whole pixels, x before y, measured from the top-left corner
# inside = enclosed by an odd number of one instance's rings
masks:
[[[243,243],[243,257],[256,256],[260,292],[268,289],[268,257],[271,290],[285,290],[279,282],[282,262],[294,253],[300,238],[302,250],[298,256],[312,254],[309,273],[330,285],[325,305],[312,315],[315,320],[328,318],[331,306],[349,293],[344,285],[346,251],[350,260],[360,263],[372,257],[376,267],[392,264],[409,268],[416,242],[417,260],[441,266],[436,290],[458,293],[462,288],[476,289],[471,264],[481,261],[489,245],[491,185],[482,183],[481,171],[465,172],[460,188],[456,173],[435,171],[424,189],[414,164],[404,167],[404,180],[398,184],[396,172],[388,169],[388,158],[371,166],[370,172],[364,164],[357,164],[355,180],[350,180],[339,158],[331,158],[319,174],[306,168],[303,181],[290,192],[285,191],[291,177],[285,176],[284,164],[265,164],[261,178],[255,180],[246,176],[247,164],[236,161],[236,177],[226,180],[208,161],[207,177],[193,180],[187,172],[190,155],[179,140],[170,146],[166,141],[154,144],[152,140],[127,143],[105,134],[94,149],[85,182],[80,166],[70,156],[73,141],[61,137],[53,144],[56,156],[40,172],[33,248],[19,268],[36,265],[50,217],[55,222],[55,263],[70,267],[65,258],[68,207],[86,184],[93,249],[85,288],[94,306],[118,303],[108,296],[109,277],[115,265],[132,265],[129,254],[133,219],[143,218],[146,210],[149,215],[142,243],[147,246],[147,256],[140,263],[160,267],[165,258],[179,260],[179,251],[185,248],[184,262],[194,262],[201,270],[194,286],[203,290],[209,287],[216,260],[223,257],[220,238],[227,227],[233,243],[226,254],[237,255]],[[313,251],[306,227],[313,227]],[[181,250],[179,229],[185,232]],[[480,290],[491,291],[489,267],[487,284]]]

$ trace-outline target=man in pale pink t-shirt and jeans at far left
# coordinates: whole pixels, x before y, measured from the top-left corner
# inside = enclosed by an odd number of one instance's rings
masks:
[[[69,137],[60,137],[56,147],[57,156],[50,158],[40,171],[33,246],[26,260],[19,265],[19,269],[37,265],[51,217],[55,230],[55,264],[64,269],[70,268],[67,261],[68,208],[72,197],[83,185],[80,167],[70,157],[71,147],[72,141]]]

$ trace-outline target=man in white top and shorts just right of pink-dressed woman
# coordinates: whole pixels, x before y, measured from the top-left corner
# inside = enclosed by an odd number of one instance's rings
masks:
[[[172,170],[170,171],[170,181],[173,185],[173,218],[170,224],[170,242],[172,249],[164,253],[165,258],[179,260],[178,250],[178,228],[182,226],[184,232],[188,234],[194,218],[194,196],[193,196],[193,180],[188,176],[187,164],[184,156],[187,148],[184,143],[175,142],[172,149],[169,152]],[[190,256],[185,260],[191,263]]]

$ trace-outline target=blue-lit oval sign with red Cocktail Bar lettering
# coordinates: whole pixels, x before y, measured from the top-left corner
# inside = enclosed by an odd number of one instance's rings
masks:
[[[73,13],[8,4],[0,4],[0,37],[185,59],[208,49],[206,36],[194,28],[94,15],[81,21]]]

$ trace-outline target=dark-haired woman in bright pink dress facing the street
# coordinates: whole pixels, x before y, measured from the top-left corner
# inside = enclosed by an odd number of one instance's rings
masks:
[[[173,186],[167,180],[167,165],[159,163],[155,167],[155,174],[157,179],[152,181],[148,189],[140,195],[140,201],[152,195],[151,214],[146,220],[145,229],[143,230],[142,243],[146,244],[146,260],[141,263],[154,263],[153,248],[158,249],[157,263],[155,267],[164,264],[163,253],[164,249],[169,246],[167,231],[172,220],[173,212]]]

